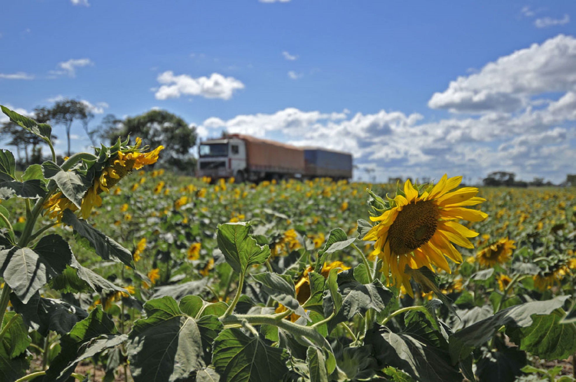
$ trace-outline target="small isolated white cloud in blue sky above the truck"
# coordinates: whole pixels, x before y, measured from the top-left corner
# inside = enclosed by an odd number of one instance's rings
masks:
[[[162,84],[155,94],[158,100],[178,98],[181,95],[229,100],[235,90],[244,89],[241,81],[218,73],[212,73],[210,77],[192,78],[187,74],[174,75],[169,70],[158,75],[157,80]]]

